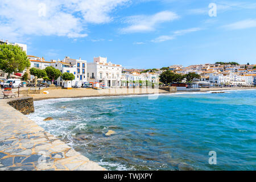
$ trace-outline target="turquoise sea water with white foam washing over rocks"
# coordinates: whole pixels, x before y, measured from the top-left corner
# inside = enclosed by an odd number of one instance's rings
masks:
[[[256,169],[256,90],[36,101],[29,117],[109,170]]]

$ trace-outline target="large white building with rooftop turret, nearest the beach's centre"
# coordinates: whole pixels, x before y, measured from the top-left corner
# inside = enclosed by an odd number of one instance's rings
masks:
[[[90,82],[103,82],[108,87],[121,86],[122,65],[107,62],[106,57],[94,57],[87,63],[87,78]]]

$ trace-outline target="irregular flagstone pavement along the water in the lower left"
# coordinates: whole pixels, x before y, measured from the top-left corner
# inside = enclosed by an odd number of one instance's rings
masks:
[[[105,170],[0,98],[0,171]]]

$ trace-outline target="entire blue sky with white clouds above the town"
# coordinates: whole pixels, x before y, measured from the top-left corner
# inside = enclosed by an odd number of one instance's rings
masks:
[[[255,0],[1,0],[0,9],[0,39],[48,61],[256,64]]]

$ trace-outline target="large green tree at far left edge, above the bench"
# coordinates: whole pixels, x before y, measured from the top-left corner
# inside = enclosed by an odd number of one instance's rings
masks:
[[[19,46],[0,45],[0,69],[8,73],[8,78],[10,78],[11,73],[23,72],[29,67],[30,60],[27,59],[26,52],[22,51]]]

